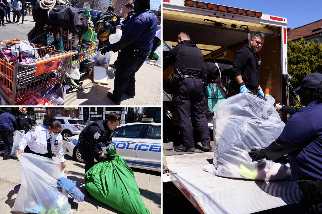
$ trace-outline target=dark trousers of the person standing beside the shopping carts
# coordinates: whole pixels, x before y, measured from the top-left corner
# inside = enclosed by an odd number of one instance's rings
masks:
[[[113,98],[120,102],[124,92],[135,94],[135,73],[146,60],[146,56],[123,53],[118,54],[118,67],[115,71]]]

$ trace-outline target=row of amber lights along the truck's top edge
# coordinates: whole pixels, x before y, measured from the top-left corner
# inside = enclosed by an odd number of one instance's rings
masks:
[[[193,1],[193,0],[185,0],[185,6],[199,7],[199,8],[204,8],[204,9],[209,9],[214,11],[221,11],[221,12],[228,12],[228,13],[238,13],[241,15],[259,17],[259,18],[263,14],[262,12],[245,10],[245,9],[236,8],[236,7],[228,7],[228,6],[223,6],[219,4],[210,4],[210,3]]]

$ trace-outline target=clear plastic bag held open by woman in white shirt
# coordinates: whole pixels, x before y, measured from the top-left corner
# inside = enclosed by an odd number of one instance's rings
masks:
[[[18,159],[21,186],[11,212],[72,213],[67,191],[56,181],[67,178],[60,162],[25,152]]]

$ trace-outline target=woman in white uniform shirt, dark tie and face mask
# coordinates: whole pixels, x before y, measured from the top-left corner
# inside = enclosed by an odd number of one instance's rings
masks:
[[[62,124],[52,117],[45,117],[43,125],[35,126],[27,132],[19,143],[19,150],[16,154],[28,152],[43,157],[52,158],[52,150],[55,149],[61,161],[62,170],[67,167],[65,164],[64,152],[62,149]]]

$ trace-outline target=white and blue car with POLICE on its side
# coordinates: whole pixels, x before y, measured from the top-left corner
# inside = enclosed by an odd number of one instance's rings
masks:
[[[84,163],[77,148],[78,136],[67,140],[66,153]],[[161,124],[128,123],[113,130],[113,144],[116,152],[126,160],[129,167],[161,170]],[[106,148],[101,143],[104,153]]]

